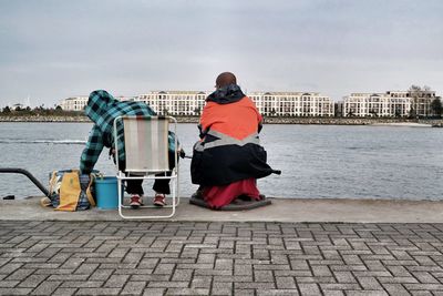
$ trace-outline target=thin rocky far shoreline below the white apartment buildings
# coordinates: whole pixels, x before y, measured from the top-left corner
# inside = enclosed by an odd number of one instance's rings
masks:
[[[198,116],[175,116],[178,123],[198,123]],[[0,116],[1,122],[49,122],[49,123],[91,123],[86,116],[61,115],[9,115]],[[317,124],[317,125],[398,125],[398,123],[429,124],[443,127],[443,119],[395,119],[395,118],[274,118],[265,116],[265,124]],[[408,125],[408,124],[405,124]]]

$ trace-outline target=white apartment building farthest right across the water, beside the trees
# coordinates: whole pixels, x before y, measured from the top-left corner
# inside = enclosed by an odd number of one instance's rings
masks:
[[[385,93],[351,93],[343,98],[343,116],[408,116],[411,98],[408,92],[388,91]]]

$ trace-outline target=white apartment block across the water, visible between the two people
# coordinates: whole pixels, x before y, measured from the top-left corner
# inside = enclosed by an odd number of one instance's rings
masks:
[[[205,91],[151,91],[135,98],[163,115],[199,115],[209,92]]]

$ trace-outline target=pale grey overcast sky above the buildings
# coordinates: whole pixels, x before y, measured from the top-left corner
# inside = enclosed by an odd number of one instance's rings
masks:
[[[0,106],[106,89],[443,92],[440,0],[0,0]]]

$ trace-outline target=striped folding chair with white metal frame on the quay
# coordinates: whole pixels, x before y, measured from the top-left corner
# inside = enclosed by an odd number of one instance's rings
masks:
[[[117,169],[119,185],[119,214],[123,218],[168,218],[174,216],[175,207],[179,204],[178,196],[178,143],[175,137],[175,167],[169,170],[168,160],[168,131],[169,123],[176,134],[177,121],[172,116],[119,116],[114,120],[115,159],[119,160],[119,137],[124,136],[126,167],[125,172]],[[123,131],[122,131],[123,129]],[[171,172],[171,176],[156,176],[158,173]],[[126,173],[126,174],[125,174]],[[124,215],[123,210],[128,208],[124,204],[122,182],[124,180],[159,180],[171,178],[172,204],[164,207],[171,208],[169,215]],[[143,205],[141,208],[157,207]],[[133,210],[131,212],[136,213]],[[127,212],[127,211],[125,211]],[[164,213],[164,211],[161,211]]]

